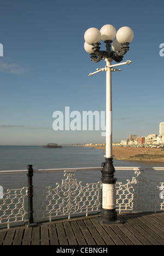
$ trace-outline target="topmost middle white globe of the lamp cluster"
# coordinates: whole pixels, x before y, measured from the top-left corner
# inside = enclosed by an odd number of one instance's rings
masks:
[[[116,29],[114,26],[112,25],[104,25],[101,30],[101,38],[103,41],[106,41],[106,40],[112,40],[115,38],[115,35],[116,35]]]

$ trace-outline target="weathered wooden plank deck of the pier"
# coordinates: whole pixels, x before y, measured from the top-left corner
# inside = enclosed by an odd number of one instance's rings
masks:
[[[101,225],[98,216],[0,230],[0,245],[164,245],[164,212],[124,213],[123,224]]]

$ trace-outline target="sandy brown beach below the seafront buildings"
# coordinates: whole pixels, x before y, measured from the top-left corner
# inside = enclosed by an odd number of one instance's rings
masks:
[[[91,147],[106,151],[105,146],[79,145],[78,147]],[[113,147],[113,155],[114,159],[121,161],[164,162],[164,151],[161,148]]]

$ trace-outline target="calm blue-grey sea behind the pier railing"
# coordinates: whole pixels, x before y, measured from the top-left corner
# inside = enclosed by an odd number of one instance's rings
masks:
[[[48,168],[101,167],[105,161],[104,150],[91,147],[63,146],[62,148],[43,148],[42,146],[0,146],[0,171],[33,170]],[[114,159],[114,167],[164,167],[162,162],[120,161]],[[147,178],[153,182],[164,182],[164,171],[147,171]],[[117,182],[127,183],[135,177],[134,171],[116,171]],[[95,183],[101,181],[101,171],[77,172],[77,181]],[[34,173],[33,185],[36,187],[55,186],[66,179],[64,173]],[[0,175],[3,191],[27,186],[26,174]]]

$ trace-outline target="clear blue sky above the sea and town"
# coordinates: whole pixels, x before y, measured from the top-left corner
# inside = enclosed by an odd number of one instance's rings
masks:
[[[159,134],[163,0],[1,0],[0,5],[0,145],[105,141],[101,131],[54,131],[52,114],[65,114],[66,106],[70,112],[106,110],[106,73],[89,77],[106,62],[92,62],[84,50],[85,31],[106,24],[134,32],[124,56],[132,64],[112,73],[113,141]]]

